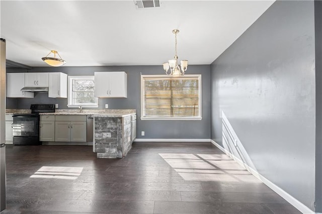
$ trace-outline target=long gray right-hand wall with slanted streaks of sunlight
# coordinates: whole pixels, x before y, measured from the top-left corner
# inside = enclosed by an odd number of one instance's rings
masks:
[[[311,210],[314,54],[314,2],[277,1],[211,64],[211,138]]]

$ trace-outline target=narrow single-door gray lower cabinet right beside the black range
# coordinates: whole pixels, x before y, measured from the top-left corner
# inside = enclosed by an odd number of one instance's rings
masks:
[[[55,141],[55,116],[54,115],[40,116],[39,140]]]

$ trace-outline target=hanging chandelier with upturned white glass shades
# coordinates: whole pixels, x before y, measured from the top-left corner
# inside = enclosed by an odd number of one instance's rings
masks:
[[[185,72],[188,67],[188,60],[182,60],[181,63],[181,68],[178,65],[178,56],[177,56],[177,34],[179,33],[178,29],[175,29],[172,31],[172,33],[175,34],[175,39],[176,39],[176,46],[175,46],[175,51],[176,55],[174,59],[169,60],[169,62],[163,63],[163,69],[165,70],[167,75],[173,75],[173,76],[183,76],[185,75]],[[170,68],[170,70],[169,70]],[[170,71],[170,72],[168,72]]]

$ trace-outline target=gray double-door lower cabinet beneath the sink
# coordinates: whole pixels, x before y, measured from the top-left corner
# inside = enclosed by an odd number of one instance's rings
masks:
[[[56,142],[86,142],[86,116],[55,116]]]

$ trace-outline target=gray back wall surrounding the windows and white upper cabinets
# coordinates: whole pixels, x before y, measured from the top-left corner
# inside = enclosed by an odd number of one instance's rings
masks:
[[[210,65],[189,65],[188,74],[202,75],[201,121],[141,121],[140,94],[142,74],[164,74],[160,66],[97,66],[97,67],[35,67],[29,72],[63,72],[71,76],[94,75],[101,71],[127,73],[127,98],[99,98],[99,109],[136,109],[137,138],[153,139],[210,139]],[[27,72],[26,69],[7,68],[7,72]],[[58,103],[67,108],[67,98],[49,98],[46,92],[35,93],[34,98],[7,98],[7,109],[29,109],[32,103]],[[145,136],[141,136],[141,131]]]

